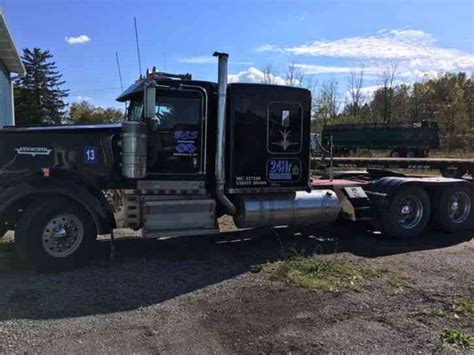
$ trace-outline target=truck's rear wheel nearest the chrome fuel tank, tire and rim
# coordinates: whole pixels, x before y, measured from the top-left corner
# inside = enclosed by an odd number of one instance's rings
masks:
[[[421,214],[413,212],[411,216],[407,212],[410,207],[405,208],[409,205],[412,205],[412,210],[421,209]],[[388,236],[399,239],[415,238],[425,231],[430,220],[430,211],[430,198],[425,190],[416,186],[402,187],[390,199],[388,208],[382,213],[378,224]],[[410,223],[411,219],[413,221]]]

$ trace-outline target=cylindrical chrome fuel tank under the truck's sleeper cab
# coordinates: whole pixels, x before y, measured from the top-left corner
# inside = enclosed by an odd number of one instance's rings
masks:
[[[341,209],[334,191],[246,195],[238,202],[234,222],[239,228],[334,222]]]

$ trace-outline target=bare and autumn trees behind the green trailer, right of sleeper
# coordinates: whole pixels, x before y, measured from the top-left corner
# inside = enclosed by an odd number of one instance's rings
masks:
[[[277,73],[262,69],[262,82],[274,83]],[[287,85],[307,87],[313,97],[312,130],[320,132],[326,125],[397,123],[422,121],[438,123],[441,149],[474,149],[474,75],[443,73],[426,77],[413,84],[402,83],[398,67],[392,63],[377,75],[371,92],[365,90],[364,67],[352,70],[346,78],[347,90],[329,80],[318,84],[290,63],[284,75]]]

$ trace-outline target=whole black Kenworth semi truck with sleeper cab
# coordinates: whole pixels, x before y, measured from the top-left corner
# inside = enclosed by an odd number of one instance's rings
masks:
[[[460,179],[310,174],[311,94],[147,72],[118,100],[121,124],[0,129],[0,225],[40,271],[83,265],[98,234],[112,234],[105,189],[124,191],[125,224],[144,238],[240,228],[373,221],[413,238],[436,222],[472,228],[473,190]]]

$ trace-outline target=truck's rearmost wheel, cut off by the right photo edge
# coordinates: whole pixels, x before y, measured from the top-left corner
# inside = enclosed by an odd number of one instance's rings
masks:
[[[457,208],[453,209],[453,199]],[[474,227],[474,191],[469,186],[455,185],[440,189],[433,202],[436,227],[456,233]]]

